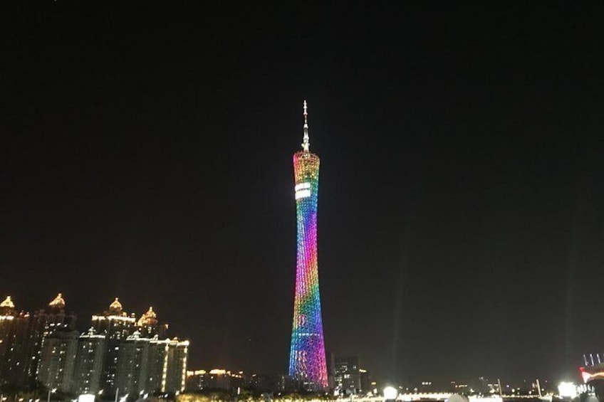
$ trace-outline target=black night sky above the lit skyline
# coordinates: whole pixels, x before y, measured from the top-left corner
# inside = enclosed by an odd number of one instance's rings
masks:
[[[401,381],[603,349],[602,1],[79,3],[0,9],[19,309],[118,296],[191,369],[285,372],[306,99],[327,349]]]

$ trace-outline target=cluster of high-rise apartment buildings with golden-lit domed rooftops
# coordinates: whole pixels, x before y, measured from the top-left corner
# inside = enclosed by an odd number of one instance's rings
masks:
[[[118,297],[78,331],[59,293],[33,313],[11,296],[0,303],[0,386],[3,391],[139,396],[184,391],[189,341],[166,337],[168,325],[149,307],[140,319]]]

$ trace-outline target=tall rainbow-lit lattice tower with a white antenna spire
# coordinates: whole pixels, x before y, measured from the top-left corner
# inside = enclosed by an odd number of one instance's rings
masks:
[[[296,216],[298,218],[298,259],[289,375],[312,388],[327,388],[317,263],[319,157],[312,154],[309,147],[308,112],[305,100],[302,150],[293,154]]]

